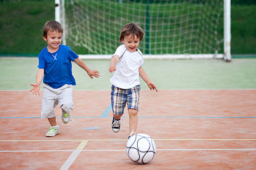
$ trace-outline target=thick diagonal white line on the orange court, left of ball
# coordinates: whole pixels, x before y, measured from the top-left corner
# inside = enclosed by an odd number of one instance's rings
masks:
[[[72,165],[77,156],[84,149],[85,145],[88,143],[88,140],[82,140],[82,142],[78,145],[77,149],[72,152],[66,162],[61,166],[60,170],[68,170],[69,167]]]

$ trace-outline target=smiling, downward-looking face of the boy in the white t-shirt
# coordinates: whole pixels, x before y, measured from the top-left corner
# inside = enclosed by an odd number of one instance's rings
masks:
[[[128,51],[130,52],[136,52],[137,51],[137,47],[139,45],[140,42],[140,38],[137,37],[136,35],[126,35],[123,37],[122,42],[125,44],[125,47],[127,48]]]

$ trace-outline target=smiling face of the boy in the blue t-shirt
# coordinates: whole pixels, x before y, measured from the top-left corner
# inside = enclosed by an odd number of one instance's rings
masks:
[[[59,45],[61,44],[62,40],[62,32],[47,32],[47,37],[43,37],[44,40],[47,42],[47,50],[51,53],[56,52],[59,49]]]

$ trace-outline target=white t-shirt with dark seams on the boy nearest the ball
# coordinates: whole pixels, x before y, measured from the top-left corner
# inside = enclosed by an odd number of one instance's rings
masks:
[[[129,89],[139,85],[138,69],[144,62],[142,52],[138,48],[136,52],[130,52],[123,44],[116,49],[114,55],[118,55],[119,60],[110,82],[122,89]]]

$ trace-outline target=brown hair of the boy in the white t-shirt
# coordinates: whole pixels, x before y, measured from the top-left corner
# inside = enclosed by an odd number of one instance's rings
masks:
[[[123,26],[123,29],[120,33],[119,40],[122,41],[124,37],[128,35],[133,35],[133,37],[135,37],[136,35],[138,38],[140,38],[140,41],[141,41],[143,38],[144,32],[138,23],[127,23]]]

